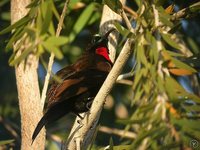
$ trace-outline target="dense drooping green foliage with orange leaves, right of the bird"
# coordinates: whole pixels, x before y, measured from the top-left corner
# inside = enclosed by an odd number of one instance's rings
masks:
[[[187,9],[197,13],[200,3]],[[119,13],[116,8],[112,10]],[[137,135],[130,140],[129,149],[189,148],[192,140],[200,141],[200,97],[184,89],[177,79],[197,75],[184,52],[191,50],[182,45],[183,38],[173,30],[177,22],[173,21],[172,10],[169,12],[156,2],[140,1],[137,13],[131,101],[136,110],[129,119],[119,121],[126,125],[126,131]]]

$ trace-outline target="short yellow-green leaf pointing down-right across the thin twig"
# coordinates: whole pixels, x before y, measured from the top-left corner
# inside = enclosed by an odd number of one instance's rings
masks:
[[[63,58],[63,54],[61,53],[61,51],[58,49],[58,47],[56,47],[56,45],[53,45],[52,43],[49,42],[42,42],[42,45],[44,46],[44,48],[48,51],[48,52],[53,52],[56,56],[56,58],[58,59],[62,59]]]

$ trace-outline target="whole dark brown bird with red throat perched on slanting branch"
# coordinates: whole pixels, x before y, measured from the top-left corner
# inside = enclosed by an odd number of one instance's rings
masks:
[[[83,55],[72,65],[56,73],[62,82],[53,81],[47,99],[47,110],[32,135],[32,142],[43,126],[50,124],[69,112],[80,117],[87,112],[92,101],[112,68],[109,58],[108,35],[95,36]]]

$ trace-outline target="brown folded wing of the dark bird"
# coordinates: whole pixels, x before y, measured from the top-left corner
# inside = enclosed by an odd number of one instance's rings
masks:
[[[87,69],[76,72],[66,77],[62,83],[51,86],[48,94],[48,106],[68,100],[71,97],[80,95],[92,88],[101,87],[108,72],[99,71],[97,69]]]

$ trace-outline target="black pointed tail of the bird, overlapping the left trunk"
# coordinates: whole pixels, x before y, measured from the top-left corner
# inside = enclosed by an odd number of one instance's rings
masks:
[[[62,116],[68,113],[66,109],[63,109],[63,106],[64,105],[62,103],[58,103],[47,110],[47,112],[38,122],[37,127],[35,128],[35,131],[33,132],[32,143],[34,142],[35,138],[37,137],[37,135],[39,134],[43,126],[46,126],[47,124],[50,124],[58,120],[59,118],[61,118]]]

